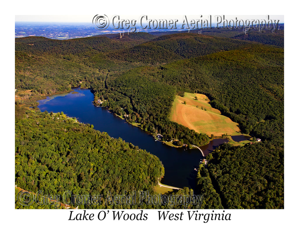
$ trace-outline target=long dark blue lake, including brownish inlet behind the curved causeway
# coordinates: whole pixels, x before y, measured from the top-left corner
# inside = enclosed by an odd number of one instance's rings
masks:
[[[122,138],[126,142],[137,145],[141,149],[156,155],[163,163],[165,175],[161,183],[183,188],[195,188],[195,178],[199,161],[202,155],[198,149],[183,149],[167,146],[160,141],[155,141],[152,135],[140,128],[134,127],[115,116],[106,108],[92,104],[94,96],[89,89],[73,88],[78,94],[64,93],[39,100],[41,111],[63,112],[68,117],[76,117],[79,122],[94,125],[94,129],[107,132],[111,137]],[[219,141],[220,140],[220,141]],[[211,141],[202,147],[205,155],[224,141],[219,139]],[[222,140],[222,141],[221,141]]]

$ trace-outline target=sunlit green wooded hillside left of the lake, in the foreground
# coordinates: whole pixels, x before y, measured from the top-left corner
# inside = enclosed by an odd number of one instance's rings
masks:
[[[63,195],[153,192],[164,168],[154,155],[58,114],[26,112],[16,120],[16,184]]]

